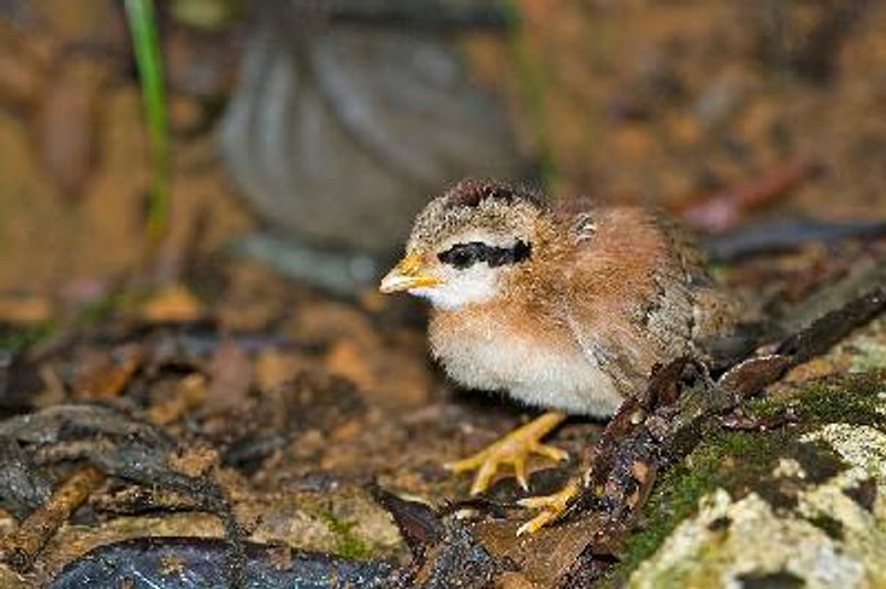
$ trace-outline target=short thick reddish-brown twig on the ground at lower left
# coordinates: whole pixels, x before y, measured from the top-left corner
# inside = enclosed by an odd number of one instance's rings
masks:
[[[18,572],[31,569],[37,556],[71,514],[104,482],[105,475],[92,465],[76,471],[49,500],[3,541],[3,561]]]

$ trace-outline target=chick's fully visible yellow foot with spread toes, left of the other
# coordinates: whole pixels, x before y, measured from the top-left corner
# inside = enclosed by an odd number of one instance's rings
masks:
[[[499,465],[511,464],[514,467],[514,474],[519,486],[527,490],[529,485],[526,482],[526,458],[533,454],[540,454],[553,461],[565,461],[568,457],[568,454],[560,448],[548,446],[540,442],[548,432],[565,418],[566,415],[563,413],[545,413],[526,425],[517,427],[498,442],[473,456],[446,464],[445,467],[453,473],[476,471],[477,475],[471,486],[471,495],[477,495],[490,487],[490,482],[492,482]]]

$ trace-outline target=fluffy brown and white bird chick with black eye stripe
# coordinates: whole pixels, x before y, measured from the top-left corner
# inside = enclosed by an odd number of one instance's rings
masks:
[[[540,442],[566,414],[610,416],[653,365],[699,354],[738,310],[660,216],[472,179],[429,203],[380,288],[431,302],[431,352],[454,381],[554,410],[450,465],[478,471],[472,494],[502,464],[526,488],[529,455],[566,457]],[[527,505],[559,512],[565,499]]]

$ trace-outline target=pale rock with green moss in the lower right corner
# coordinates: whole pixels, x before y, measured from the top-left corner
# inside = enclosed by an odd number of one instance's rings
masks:
[[[794,416],[769,431],[711,426],[659,480],[608,583],[886,587],[884,376],[750,403]]]

